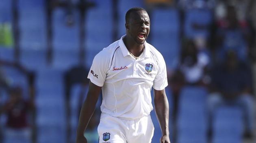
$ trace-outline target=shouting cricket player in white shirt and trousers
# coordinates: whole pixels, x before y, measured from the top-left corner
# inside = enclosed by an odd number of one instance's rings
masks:
[[[160,143],[170,143],[166,65],[161,53],[145,41],[150,33],[150,18],[145,9],[131,8],[125,19],[126,35],[93,59],[76,143],[87,143],[84,132],[101,90],[99,143],[151,143],[154,134],[150,118],[152,87],[155,111],[162,130]]]

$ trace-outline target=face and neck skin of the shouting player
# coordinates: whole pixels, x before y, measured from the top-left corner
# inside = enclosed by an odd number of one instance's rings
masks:
[[[143,44],[150,33],[150,18],[146,11],[136,11],[130,14],[126,21],[126,48],[136,57],[143,52]]]

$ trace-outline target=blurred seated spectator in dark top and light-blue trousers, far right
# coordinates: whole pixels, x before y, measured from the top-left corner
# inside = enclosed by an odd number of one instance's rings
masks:
[[[234,105],[243,109],[245,114],[246,135],[253,133],[254,108],[251,95],[252,73],[247,65],[240,62],[236,53],[229,51],[225,63],[213,68],[208,97],[208,109],[211,118],[221,105]],[[210,124],[211,128],[211,124]]]

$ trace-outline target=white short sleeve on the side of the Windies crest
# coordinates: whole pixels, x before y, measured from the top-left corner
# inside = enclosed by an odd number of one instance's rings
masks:
[[[158,62],[159,69],[158,69],[158,72],[156,74],[156,77],[154,79],[154,84],[153,84],[153,88],[155,90],[163,90],[168,85],[165,60],[163,59],[162,55],[159,59],[160,59]]]

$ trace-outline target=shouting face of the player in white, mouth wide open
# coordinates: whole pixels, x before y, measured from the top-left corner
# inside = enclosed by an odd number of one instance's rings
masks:
[[[150,32],[150,19],[146,11],[136,11],[131,13],[128,23],[126,23],[127,34],[129,34],[137,44],[143,44]]]

